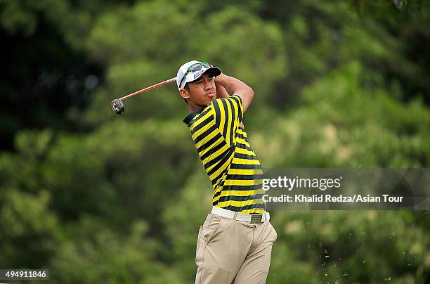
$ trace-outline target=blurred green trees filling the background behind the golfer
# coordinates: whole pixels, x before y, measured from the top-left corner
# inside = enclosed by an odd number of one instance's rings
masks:
[[[429,167],[429,1],[0,1],[0,268],[192,283],[211,185],[175,84],[247,82],[263,167]],[[271,212],[268,283],[426,283],[429,212]]]

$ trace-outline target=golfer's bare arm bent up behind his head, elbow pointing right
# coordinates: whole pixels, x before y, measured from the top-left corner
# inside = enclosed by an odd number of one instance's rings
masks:
[[[254,98],[254,91],[250,86],[239,79],[223,74],[215,77],[215,84],[216,96],[218,98],[228,98],[228,93],[240,96],[240,98],[242,98],[243,112],[245,113]],[[219,86],[222,88],[219,88]],[[225,89],[227,93],[224,93],[223,89]]]

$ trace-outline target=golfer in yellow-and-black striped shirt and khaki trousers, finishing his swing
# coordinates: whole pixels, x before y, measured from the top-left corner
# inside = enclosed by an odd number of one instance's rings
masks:
[[[176,83],[190,109],[183,122],[214,187],[213,207],[197,238],[195,283],[266,283],[278,235],[262,200],[261,165],[242,122],[254,91],[195,60],[179,68]]]

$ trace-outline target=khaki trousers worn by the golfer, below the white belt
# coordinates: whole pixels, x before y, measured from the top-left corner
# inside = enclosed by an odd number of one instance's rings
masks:
[[[250,224],[207,215],[197,238],[197,284],[261,284],[278,234],[269,221]]]

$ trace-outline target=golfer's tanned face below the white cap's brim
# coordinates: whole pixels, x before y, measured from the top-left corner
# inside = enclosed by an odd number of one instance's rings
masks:
[[[215,98],[214,77],[204,73],[199,79],[189,82],[188,89],[180,91],[183,98],[188,99],[191,110],[199,110],[207,106]]]

